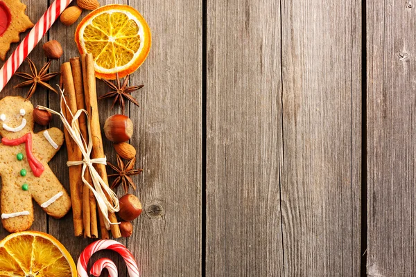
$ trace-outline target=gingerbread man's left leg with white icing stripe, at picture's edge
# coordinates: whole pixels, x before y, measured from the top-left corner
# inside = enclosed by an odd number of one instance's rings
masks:
[[[2,178],[1,223],[10,233],[25,231],[33,224],[31,193],[10,178],[12,176]]]

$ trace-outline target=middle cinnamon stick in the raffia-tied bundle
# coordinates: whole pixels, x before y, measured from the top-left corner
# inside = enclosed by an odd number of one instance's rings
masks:
[[[81,68],[81,62],[79,57],[73,57],[69,60],[72,69],[73,84],[75,87],[76,94],[76,107],[78,110],[85,109],[85,99],[84,99],[84,87],[83,87],[83,69]],[[85,139],[85,142],[88,143],[88,133],[87,133],[87,116],[81,114],[78,118],[78,123],[80,126],[80,132]],[[91,175],[89,175],[88,168],[85,170],[85,179],[87,179],[89,184],[92,184]],[[97,215],[96,215],[96,199],[95,197],[89,197],[92,191],[89,190],[87,185],[83,185],[83,222],[84,222],[84,238],[98,238],[98,228],[97,228]],[[93,195],[93,194],[92,194]],[[94,196],[94,195],[93,195]],[[90,202],[94,202],[92,205]],[[94,206],[93,213],[91,213],[91,206]]]

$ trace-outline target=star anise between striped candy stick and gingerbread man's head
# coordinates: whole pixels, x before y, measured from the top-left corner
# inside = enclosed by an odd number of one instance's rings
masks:
[[[29,73],[17,72],[16,75],[27,79],[27,81],[21,82],[20,84],[17,84],[17,86],[15,86],[15,88],[31,86],[31,89],[29,89],[28,95],[26,96],[26,100],[33,96],[33,93],[35,93],[36,91],[37,84],[40,84],[42,87],[45,87],[46,89],[49,89],[58,94],[58,91],[56,91],[56,89],[54,89],[53,87],[51,87],[51,85],[47,83],[47,81],[51,80],[56,75],[60,74],[59,72],[48,73],[49,66],[51,66],[51,61],[46,62],[42,69],[40,69],[40,71],[37,72],[36,66],[31,61],[31,59],[27,58],[26,60],[29,66],[31,67],[32,75]]]

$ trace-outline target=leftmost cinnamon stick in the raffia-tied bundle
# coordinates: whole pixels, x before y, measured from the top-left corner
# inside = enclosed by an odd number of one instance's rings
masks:
[[[64,87],[64,98],[67,100],[67,105],[73,114],[77,111],[76,106],[76,94],[73,84],[73,77],[71,71],[71,65],[69,62],[65,62],[61,66],[62,82]],[[63,105],[62,111],[68,122],[72,121],[72,116],[67,107]],[[67,143],[68,161],[82,161],[83,154],[78,148],[76,143],[69,135],[66,128],[64,128],[65,141]],[[69,167],[69,187],[71,190],[71,202],[72,202],[72,214],[73,214],[73,231],[78,237],[83,235],[83,180],[81,179],[83,168],[82,166],[70,166]]]

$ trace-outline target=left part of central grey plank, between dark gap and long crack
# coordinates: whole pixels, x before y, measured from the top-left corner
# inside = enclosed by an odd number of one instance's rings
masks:
[[[279,1],[207,1],[207,276],[283,276]]]

